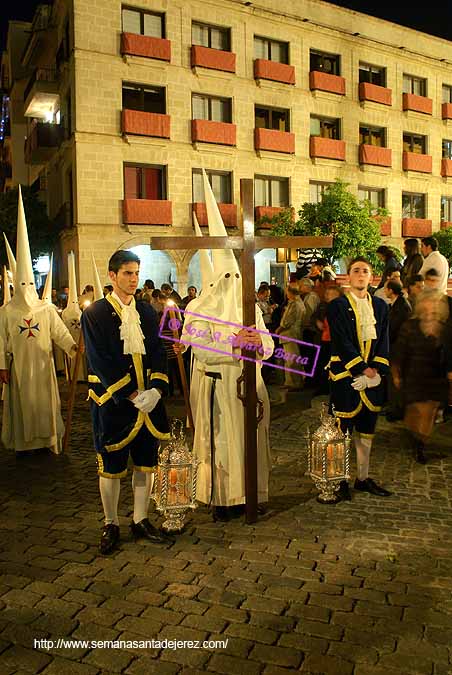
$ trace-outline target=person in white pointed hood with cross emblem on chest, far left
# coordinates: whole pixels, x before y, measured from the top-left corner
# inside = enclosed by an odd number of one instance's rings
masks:
[[[68,354],[76,346],[54,305],[35,288],[27,225],[19,187],[14,297],[0,313],[0,381],[5,383],[2,442],[16,452],[61,451],[64,424],[52,340]]]

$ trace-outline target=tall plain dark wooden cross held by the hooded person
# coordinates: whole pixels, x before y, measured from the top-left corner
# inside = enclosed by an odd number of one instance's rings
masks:
[[[254,235],[254,181],[240,180],[240,202],[243,235],[240,237],[152,237],[151,248],[156,250],[233,249],[241,251],[243,325],[256,323],[254,255],[264,248],[331,248],[332,237],[271,237]],[[247,352],[243,351],[243,354]],[[248,352],[249,354],[249,352]],[[257,392],[256,366],[243,361],[243,391],[238,392],[244,405],[245,435],[245,497],[246,522],[257,520]],[[239,378],[241,379],[241,378]]]

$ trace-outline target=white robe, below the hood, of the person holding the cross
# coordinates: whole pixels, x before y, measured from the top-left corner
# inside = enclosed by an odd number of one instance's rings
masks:
[[[228,349],[228,345],[219,346],[213,342],[215,331],[226,336],[225,326],[214,324],[204,319],[191,322],[200,330],[209,329],[210,337],[197,338],[190,336],[194,363],[197,372],[192,380],[191,400],[195,416],[194,455],[200,461],[198,467],[197,494],[198,501],[208,504],[211,498],[211,440],[210,440],[210,395],[213,379],[207,372],[221,374],[217,379],[214,396],[214,447],[215,469],[212,504],[233,506],[245,503],[245,448],[244,448],[244,408],[237,398],[237,378],[242,372],[242,362],[229,354],[218,354],[203,348]],[[262,312],[256,310],[256,327],[266,331]],[[273,351],[273,340],[266,331],[261,334],[263,349]],[[267,389],[261,375],[261,364],[256,365],[257,396],[264,405],[264,417],[259,423],[257,432],[257,468],[258,468],[258,501],[268,501],[268,478],[271,467],[269,443],[270,403]]]

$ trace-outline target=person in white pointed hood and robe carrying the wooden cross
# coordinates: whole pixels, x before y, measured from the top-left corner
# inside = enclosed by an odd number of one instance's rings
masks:
[[[215,197],[203,171],[209,234],[227,236]],[[240,334],[246,342],[260,342],[257,355],[257,396],[263,403],[264,415],[257,430],[258,501],[268,501],[268,478],[271,466],[268,428],[270,404],[262,380],[261,361],[273,353],[273,340],[265,328],[261,310],[256,306],[256,328],[259,333],[248,333],[243,326],[242,280],[235,256],[231,250],[213,250],[213,278],[203,289],[199,299],[190,303],[190,312],[203,314],[202,319],[186,316],[182,340],[189,341],[196,360],[202,364],[197,391],[195,437],[193,451],[200,460],[197,481],[197,499],[213,504],[214,517],[228,520],[240,509],[231,509],[245,503],[245,448],[244,408],[237,398],[237,378],[242,373],[242,362],[233,356],[229,337]],[[228,321],[228,326],[217,321]],[[196,333],[194,333],[196,331]],[[221,341],[221,343],[219,342]],[[206,349],[206,347],[210,349]],[[227,353],[217,353],[220,349]]]

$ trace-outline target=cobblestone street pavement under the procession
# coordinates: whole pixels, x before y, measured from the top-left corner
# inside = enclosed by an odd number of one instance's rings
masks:
[[[393,496],[325,506],[304,475],[318,399],[309,408],[308,393],[290,394],[273,407],[271,499],[258,523],[213,523],[200,507],[175,544],[137,544],[126,479],[121,549],[102,558],[85,393],[66,455],[0,452],[0,675],[452,673],[452,422],[436,426],[421,466],[401,425],[382,419],[371,475]],[[43,639],[54,643],[34,646]],[[151,639],[227,646],[139,648]]]

